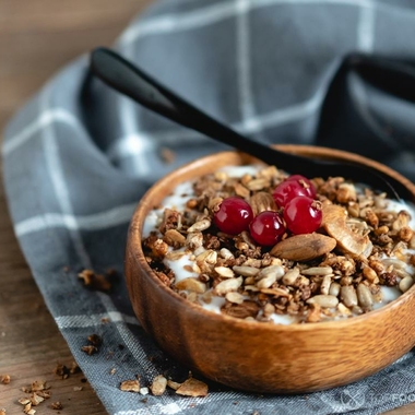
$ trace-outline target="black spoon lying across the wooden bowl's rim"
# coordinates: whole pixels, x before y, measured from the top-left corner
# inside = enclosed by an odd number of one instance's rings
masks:
[[[357,182],[365,181],[378,190],[387,191],[391,198],[414,200],[412,192],[400,181],[371,167],[341,161],[328,162],[304,157],[281,152],[248,139],[202,112],[112,50],[94,49],[91,54],[91,70],[106,84],[144,107],[248,153],[266,164],[276,165],[283,170],[306,177],[341,176]]]

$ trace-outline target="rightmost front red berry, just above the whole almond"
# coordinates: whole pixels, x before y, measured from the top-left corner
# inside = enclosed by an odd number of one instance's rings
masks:
[[[321,203],[307,197],[292,199],[284,209],[284,220],[293,234],[311,234],[321,225]]]

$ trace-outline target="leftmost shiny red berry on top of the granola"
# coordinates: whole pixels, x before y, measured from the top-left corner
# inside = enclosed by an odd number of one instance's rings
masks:
[[[253,213],[249,203],[241,198],[230,197],[222,201],[213,222],[225,234],[237,235],[248,229],[252,218]]]

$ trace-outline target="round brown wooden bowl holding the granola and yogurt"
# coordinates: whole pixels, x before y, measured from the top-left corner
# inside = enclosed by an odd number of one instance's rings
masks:
[[[354,159],[415,186],[390,168],[355,154],[315,146],[283,151]],[[146,263],[142,225],[147,213],[178,183],[227,165],[251,163],[224,152],[169,174],[141,200],[130,225],[126,276],[131,303],[145,331],[189,369],[249,392],[303,393],[346,384],[392,364],[415,345],[415,285],[396,300],[342,321],[278,325],[216,315],[165,286]]]

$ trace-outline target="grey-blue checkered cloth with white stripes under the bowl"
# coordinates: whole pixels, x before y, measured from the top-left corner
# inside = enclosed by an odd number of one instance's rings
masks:
[[[114,48],[259,141],[318,143],[320,108],[342,58],[351,51],[415,58],[414,39],[413,0],[165,0],[133,21]],[[50,80],[8,126],[2,155],[19,241],[107,411],[377,414],[415,401],[413,352],[368,379],[307,395],[263,396],[213,382],[200,399],[174,391],[144,399],[119,390],[135,376],[146,386],[158,374],[179,381],[188,372],[146,336],[130,307],[122,265],[133,209],[157,178],[224,146],[150,114],[87,72],[83,56]],[[369,96],[369,87],[364,92]],[[415,112],[407,104],[396,105],[411,121]],[[369,107],[359,108],[377,127]],[[384,134],[376,146],[379,158],[415,178],[413,164],[405,163],[414,156],[411,133],[395,140]],[[346,143],[334,135],[325,144],[375,151],[353,138]],[[173,163],[163,161],[164,149],[174,152]],[[115,269],[120,276],[106,294],[82,285],[82,269]],[[103,345],[87,356],[81,347],[92,333]]]

